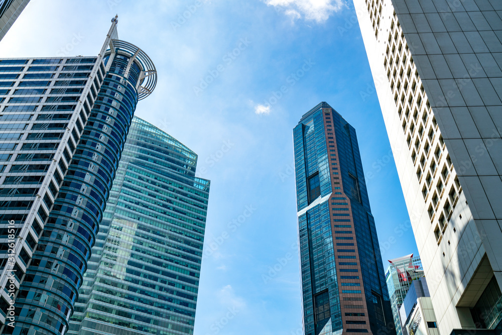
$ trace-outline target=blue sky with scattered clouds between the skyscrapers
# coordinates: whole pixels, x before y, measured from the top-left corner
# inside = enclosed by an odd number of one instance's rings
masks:
[[[136,115],[211,180],[195,335],[301,333],[292,130],[320,101],[357,131],[384,267],[418,253],[351,2],[31,0],[0,57],[96,55],[115,14],[158,70]]]

